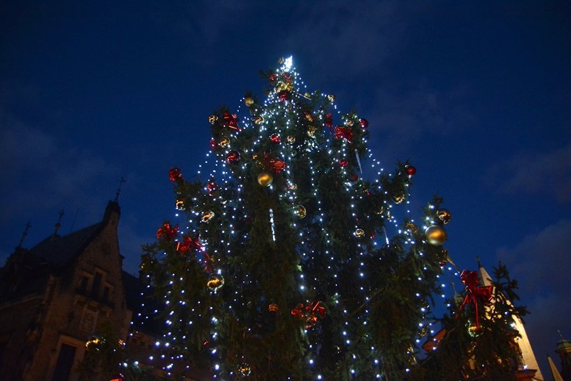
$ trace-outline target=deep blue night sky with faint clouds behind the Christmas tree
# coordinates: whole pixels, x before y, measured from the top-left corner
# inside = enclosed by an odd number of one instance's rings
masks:
[[[386,170],[416,166],[417,219],[444,197],[460,268],[508,265],[549,378],[556,329],[571,339],[570,17],[545,1],[3,1],[0,262],[27,221],[24,247],[61,208],[61,234],[100,221],[124,176],[120,250],[136,273],[174,214],[169,168],[192,178],[212,111],[263,99],[259,70],[292,55],[309,91],[369,120]]]

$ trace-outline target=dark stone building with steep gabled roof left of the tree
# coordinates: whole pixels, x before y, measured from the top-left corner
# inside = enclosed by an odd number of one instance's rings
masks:
[[[100,223],[17,247],[0,269],[1,380],[77,380],[73,369],[100,324],[127,336],[119,216],[109,202]]]

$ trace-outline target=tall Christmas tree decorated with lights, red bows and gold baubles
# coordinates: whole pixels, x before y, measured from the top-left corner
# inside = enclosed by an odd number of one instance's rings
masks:
[[[416,222],[414,166],[385,172],[367,148],[366,118],[308,92],[291,59],[263,77],[263,101],[247,93],[245,107],[210,116],[201,166],[210,173],[188,180],[171,169],[179,222],[164,221],[143,248],[166,370],[212,369],[222,380],[425,377],[436,357],[419,361],[416,345],[434,333],[433,295],[444,297],[450,212],[435,197]],[[477,296],[462,315],[473,318],[492,291],[466,285]]]

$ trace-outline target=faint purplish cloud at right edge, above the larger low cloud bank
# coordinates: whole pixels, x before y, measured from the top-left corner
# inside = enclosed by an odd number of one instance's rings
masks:
[[[571,144],[552,152],[519,153],[487,171],[487,182],[503,194],[551,194],[571,201]]]

